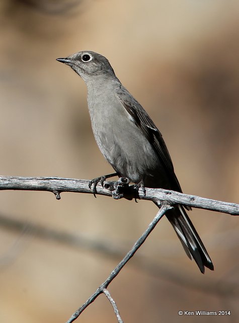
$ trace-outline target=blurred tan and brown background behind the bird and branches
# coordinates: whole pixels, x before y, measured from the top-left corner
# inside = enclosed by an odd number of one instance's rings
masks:
[[[184,192],[238,203],[238,9],[226,0],[2,0],[2,175],[112,172],[93,138],[84,82],[55,61],[89,49],[109,59],[162,131]],[[0,321],[8,323],[64,322],[120,260],[40,238],[29,224],[126,253],[157,211],[144,201],[21,191],[2,191],[0,205],[1,219],[26,223],[25,231],[0,224]],[[215,271],[201,275],[163,219],[109,287],[125,322],[218,322],[178,310],[230,310],[220,320],[238,321],[238,218],[196,209],[190,217]],[[116,318],[100,296],[78,321]]]

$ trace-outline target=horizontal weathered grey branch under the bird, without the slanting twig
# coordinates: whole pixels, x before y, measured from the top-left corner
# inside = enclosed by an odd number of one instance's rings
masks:
[[[239,215],[239,205],[235,203],[222,202],[203,198],[195,195],[183,194],[175,191],[164,189],[146,188],[146,196],[143,191],[139,189],[137,196],[135,189],[129,186],[126,198],[140,198],[143,200],[151,200],[160,205],[165,201],[171,205],[184,204],[191,207],[203,208],[212,211],[229,213],[231,215]],[[90,193],[92,190],[89,188],[89,181],[79,179],[69,179],[60,177],[14,177],[14,176],[1,176],[0,177],[0,190],[31,190],[31,191],[49,191],[53,192],[57,199],[60,198],[61,192],[77,192],[77,193]],[[98,184],[97,194],[112,196],[110,189],[103,188]],[[121,198],[122,196],[116,195],[114,198]]]

